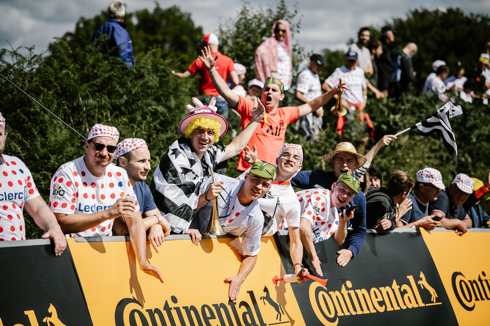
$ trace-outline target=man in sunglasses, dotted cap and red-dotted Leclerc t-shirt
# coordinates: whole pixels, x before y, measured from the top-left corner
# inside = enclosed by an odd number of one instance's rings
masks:
[[[63,164],[51,179],[49,207],[67,237],[112,235],[114,219],[127,224],[140,269],[163,283],[147,263],[145,225],[124,169],[111,164],[119,131],[96,124],[85,141],[85,155]]]

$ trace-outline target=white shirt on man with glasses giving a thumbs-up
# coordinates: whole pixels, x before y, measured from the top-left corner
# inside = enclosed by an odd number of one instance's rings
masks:
[[[238,178],[240,180],[245,180],[245,175],[249,171],[250,168],[248,168],[248,170],[246,170],[244,173],[240,174]],[[279,198],[279,205],[277,206],[274,214],[272,226],[264,235],[265,237],[272,236],[278,230],[283,230],[282,223],[286,223],[286,230],[289,228],[289,226],[299,227],[299,201],[294,194],[293,186],[291,186],[291,184],[288,186],[281,186],[277,183],[273,183],[270,186],[266,196],[270,198]]]

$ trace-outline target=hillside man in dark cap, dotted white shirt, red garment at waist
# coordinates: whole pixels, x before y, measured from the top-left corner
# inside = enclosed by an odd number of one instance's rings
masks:
[[[370,129],[371,138],[374,137],[372,130],[374,126],[367,113],[363,110],[366,108],[368,101],[368,86],[364,77],[364,70],[357,66],[358,56],[354,51],[347,52],[345,56],[345,65],[335,69],[335,71],[323,82],[321,88],[329,92],[333,87],[339,84],[342,79],[346,83],[347,90],[342,94],[342,105],[347,109],[347,115],[340,116],[337,120],[337,131],[342,135],[345,119],[353,120],[354,112],[359,111],[361,121],[366,120]],[[339,96],[339,95],[337,95]]]

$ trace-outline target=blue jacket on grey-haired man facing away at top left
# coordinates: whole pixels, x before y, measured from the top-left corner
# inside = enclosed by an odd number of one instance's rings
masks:
[[[107,35],[107,39],[99,40],[102,45],[102,53],[106,53],[114,46],[119,46],[119,57],[127,64],[128,68],[131,68],[134,65],[133,45],[124,24],[115,19],[108,20],[97,29],[92,41],[96,41],[101,35]]]

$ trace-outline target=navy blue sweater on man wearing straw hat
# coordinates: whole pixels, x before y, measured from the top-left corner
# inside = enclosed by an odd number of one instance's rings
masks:
[[[332,183],[335,181],[337,181],[337,177],[334,172],[325,172],[323,170],[300,171],[291,180],[291,184],[294,187],[302,189],[324,188],[332,190]],[[355,256],[361,250],[368,233],[366,231],[366,197],[363,192],[359,191],[359,194],[356,194],[349,204],[359,205],[354,213],[354,218],[347,222],[347,227],[352,226],[352,233],[349,236],[349,246],[347,249],[352,251],[352,254]],[[344,207],[337,208],[339,213],[343,209]]]

